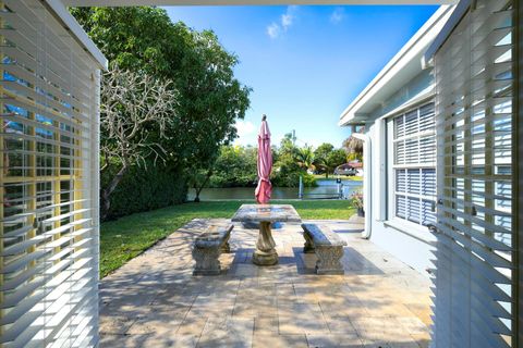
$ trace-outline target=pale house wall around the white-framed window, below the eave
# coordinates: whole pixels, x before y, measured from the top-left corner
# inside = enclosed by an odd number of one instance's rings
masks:
[[[387,163],[387,126],[386,115],[391,111],[415,103],[421,97],[425,100],[434,87],[434,76],[430,70],[423,71],[405,84],[396,95],[373,111],[370,121],[366,124],[366,134],[370,137],[372,165],[372,234],[370,240],[396,258],[409,264],[419,273],[429,275],[431,268],[431,243],[435,238],[423,226],[412,226],[408,222],[392,221],[388,214],[388,177],[392,170]],[[390,115],[393,115],[392,112]],[[367,212],[368,213],[368,212]]]

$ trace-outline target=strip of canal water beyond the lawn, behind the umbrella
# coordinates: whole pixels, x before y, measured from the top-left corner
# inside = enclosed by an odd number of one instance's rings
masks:
[[[317,187],[305,187],[304,199],[326,199],[338,196],[338,184],[336,181],[318,179]],[[363,183],[356,181],[341,181],[343,197],[349,198],[354,191],[362,191]],[[273,187],[272,199],[297,199],[297,187]],[[193,200],[195,190],[188,190],[188,200]],[[199,194],[202,200],[235,200],[254,199],[254,187],[227,187],[227,188],[204,188]]]

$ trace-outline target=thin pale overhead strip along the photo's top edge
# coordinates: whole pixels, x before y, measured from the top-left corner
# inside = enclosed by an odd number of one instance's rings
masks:
[[[62,0],[68,7],[259,4],[455,4],[458,0]]]

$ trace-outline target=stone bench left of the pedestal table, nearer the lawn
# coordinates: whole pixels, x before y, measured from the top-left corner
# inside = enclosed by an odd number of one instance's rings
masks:
[[[221,265],[218,258],[222,252],[230,252],[229,238],[233,227],[210,225],[196,237],[193,246],[193,259],[196,261],[193,275],[220,274]]]

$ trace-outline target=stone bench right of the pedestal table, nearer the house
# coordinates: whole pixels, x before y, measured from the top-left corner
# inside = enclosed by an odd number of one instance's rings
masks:
[[[340,260],[346,241],[325,225],[302,224],[302,228],[305,238],[303,252],[315,252],[318,257],[316,274],[344,274]]]

